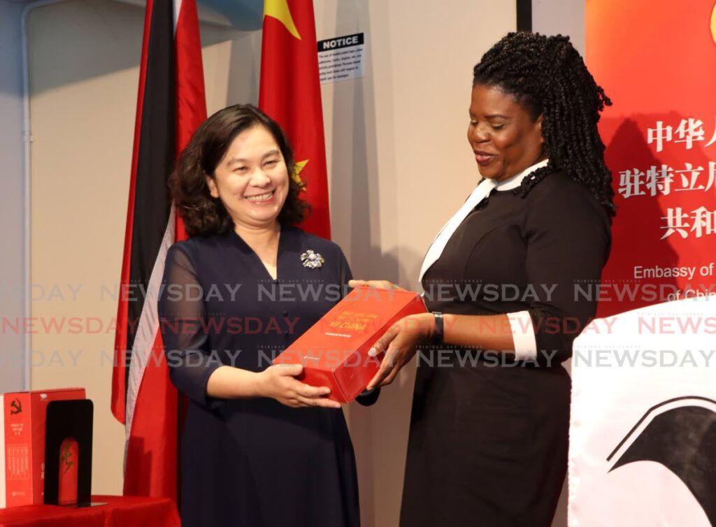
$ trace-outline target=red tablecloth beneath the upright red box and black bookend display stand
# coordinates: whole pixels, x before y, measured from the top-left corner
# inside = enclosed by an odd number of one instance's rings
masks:
[[[174,502],[166,498],[92,496],[92,502],[107,505],[3,508],[0,527],[181,527]]]

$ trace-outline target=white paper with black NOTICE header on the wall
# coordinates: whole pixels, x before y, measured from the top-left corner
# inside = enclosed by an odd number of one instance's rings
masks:
[[[321,84],[363,77],[364,34],[319,40],[318,68]]]

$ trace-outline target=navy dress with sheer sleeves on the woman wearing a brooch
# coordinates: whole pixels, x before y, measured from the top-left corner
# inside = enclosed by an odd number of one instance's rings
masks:
[[[323,256],[323,266],[303,266],[308,249]],[[181,436],[184,527],[359,526],[341,410],[206,395],[208,377],[222,364],[269,367],[339,301],[351,278],[337,245],[297,228],[281,228],[277,268],[271,279],[233,232],[168,251],[162,334],[172,382],[190,400]]]

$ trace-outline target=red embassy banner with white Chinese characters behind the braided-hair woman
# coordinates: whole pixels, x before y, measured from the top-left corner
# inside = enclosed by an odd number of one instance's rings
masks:
[[[598,316],[716,293],[715,3],[586,2],[586,64],[614,102],[599,127],[617,211]]]

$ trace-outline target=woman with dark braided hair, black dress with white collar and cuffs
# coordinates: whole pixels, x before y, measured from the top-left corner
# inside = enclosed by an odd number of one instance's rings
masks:
[[[568,447],[561,362],[596,312],[575,286],[599,282],[611,243],[596,127],[609,104],[567,37],[508,34],[475,66],[468,141],[483,180],[423,263],[433,313],[374,349],[387,353],[369,387],[423,344],[402,527],[551,524]]]

